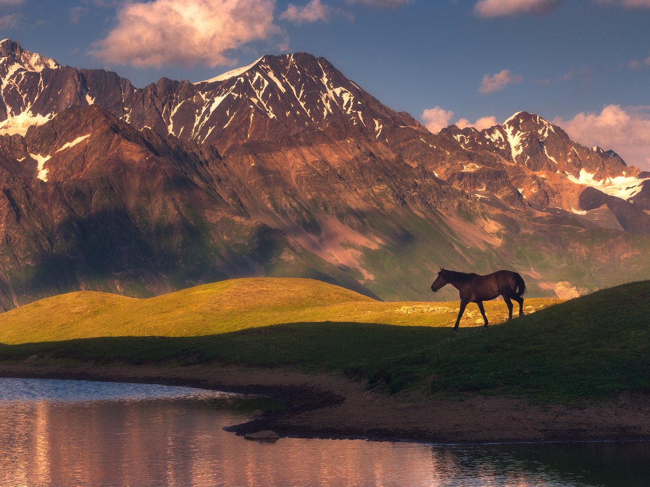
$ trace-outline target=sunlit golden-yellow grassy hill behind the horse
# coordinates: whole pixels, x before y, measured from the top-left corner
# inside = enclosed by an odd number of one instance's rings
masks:
[[[526,305],[553,302],[532,299]],[[486,303],[486,312],[491,321],[506,318],[502,301]],[[317,321],[447,326],[456,314],[457,303],[383,303],[313,279],[232,279],[148,299],[98,292],[49,297],[0,314],[0,343],[205,336]],[[480,318],[476,309],[465,314],[465,326]]]

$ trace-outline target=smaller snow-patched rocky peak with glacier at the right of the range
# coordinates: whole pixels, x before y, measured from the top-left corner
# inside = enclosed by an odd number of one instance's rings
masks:
[[[500,169],[527,203],[542,208],[584,214],[578,197],[591,187],[625,201],[637,201],[642,210],[650,209],[643,197],[650,175],[627,166],[614,151],[577,144],[560,127],[538,115],[518,112],[502,125],[483,131],[453,125],[439,134],[456,140],[473,159],[471,164],[463,164],[460,174],[454,173],[457,166],[444,169],[448,178],[461,182],[466,190],[505,186],[505,180],[493,179],[495,169]]]

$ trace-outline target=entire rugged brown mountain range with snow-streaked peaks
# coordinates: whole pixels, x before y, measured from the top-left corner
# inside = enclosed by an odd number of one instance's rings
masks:
[[[5,309],[260,275],[426,299],[439,266],[538,295],[650,277],[650,174],[537,115],[432,134],[307,53],[144,88],[0,56]]]

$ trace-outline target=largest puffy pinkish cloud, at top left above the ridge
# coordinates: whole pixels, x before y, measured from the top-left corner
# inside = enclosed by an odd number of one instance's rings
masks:
[[[234,64],[231,49],[281,36],[275,0],[154,0],[125,3],[117,25],[90,54],[109,64],[214,68]]]

